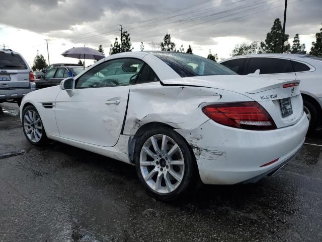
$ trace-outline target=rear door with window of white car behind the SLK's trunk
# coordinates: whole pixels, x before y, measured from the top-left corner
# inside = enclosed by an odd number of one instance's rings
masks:
[[[260,70],[260,76],[282,80],[295,80],[295,72],[290,59],[275,57],[249,57],[245,74]]]

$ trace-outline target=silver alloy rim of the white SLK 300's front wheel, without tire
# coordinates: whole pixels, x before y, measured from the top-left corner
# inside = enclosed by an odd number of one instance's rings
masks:
[[[28,110],[24,115],[24,129],[28,139],[34,143],[42,137],[42,123],[39,115],[34,110]]]

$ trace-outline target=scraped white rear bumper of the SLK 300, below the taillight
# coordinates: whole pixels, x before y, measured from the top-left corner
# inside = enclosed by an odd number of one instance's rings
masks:
[[[176,131],[192,147],[204,184],[237,184],[256,182],[289,162],[300,150],[307,128],[302,115],[295,125],[271,131],[234,129],[212,120],[195,130]]]

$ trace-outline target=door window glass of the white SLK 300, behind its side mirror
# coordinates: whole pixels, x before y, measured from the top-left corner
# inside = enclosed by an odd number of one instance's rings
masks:
[[[86,72],[75,88],[124,86],[135,82],[143,62],[134,58],[112,59]]]

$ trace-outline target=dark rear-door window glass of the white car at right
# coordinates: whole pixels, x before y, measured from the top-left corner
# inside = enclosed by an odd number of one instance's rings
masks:
[[[290,59],[252,57],[247,66],[246,74],[260,69],[260,74],[277,74],[294,72]]]

